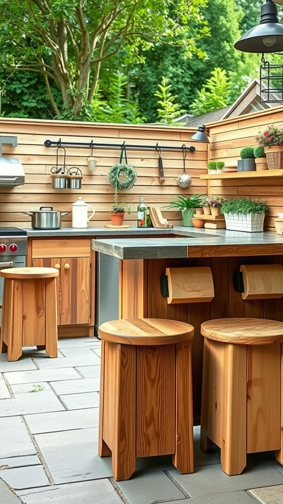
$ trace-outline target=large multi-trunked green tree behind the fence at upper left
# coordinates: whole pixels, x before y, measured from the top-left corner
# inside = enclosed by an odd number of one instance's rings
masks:
[[[2,0],[0,64],[41,73],[52,107],[77,117],[93,99],[101,65],[121,47],[129,61],[155,43],[197,53],[207,31],[200,7],[206,0]]]

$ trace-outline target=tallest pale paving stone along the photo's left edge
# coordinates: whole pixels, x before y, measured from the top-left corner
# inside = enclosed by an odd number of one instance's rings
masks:
[[[0,418],[0,463],[2,459],[34,455],[36,450],[20,416]]]

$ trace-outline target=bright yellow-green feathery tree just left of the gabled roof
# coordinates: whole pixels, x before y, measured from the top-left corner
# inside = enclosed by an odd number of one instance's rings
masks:
[[[195,100],[190,106],[190,112],[194,115],[217,110],[226,107],[230,93],[230,83],[226,70],[215,68],[211,72],[204,86],[197,92]]]

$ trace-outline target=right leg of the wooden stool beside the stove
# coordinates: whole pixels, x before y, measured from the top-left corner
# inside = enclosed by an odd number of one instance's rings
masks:
[[[45,347],[49,357],[57,357],[57,298],[55,278],[46,278]]]

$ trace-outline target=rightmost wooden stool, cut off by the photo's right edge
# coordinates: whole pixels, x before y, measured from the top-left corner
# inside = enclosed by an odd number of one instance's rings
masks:
[[[275,451],[283,465],[283,324],[218,319],[204,336],[200,448],[215,443],[222,469],[241,474],[246,454]]]

